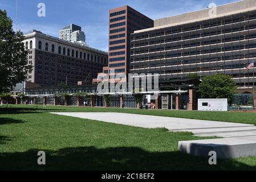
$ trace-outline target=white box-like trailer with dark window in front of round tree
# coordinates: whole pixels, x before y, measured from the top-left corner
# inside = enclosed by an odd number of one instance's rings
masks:
[[[227,98],[198,99],[198,110],[227,111]]]

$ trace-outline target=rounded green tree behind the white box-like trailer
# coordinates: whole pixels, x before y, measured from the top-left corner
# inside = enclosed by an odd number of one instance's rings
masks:
[[[202,78],[198,86],[198,95],[200,98],[227,98],[230,102],[236,90],[237,85],[230,76],[218,73]]]

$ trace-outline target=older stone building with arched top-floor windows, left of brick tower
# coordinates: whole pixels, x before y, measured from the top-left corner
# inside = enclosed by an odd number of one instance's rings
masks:
[[[29,51],[28,64],[33,66],[28,81],[40,86],[77,85],[78,81],[91,84],[107,65],[107,52],[39,31],[26,34],[23,42]]]

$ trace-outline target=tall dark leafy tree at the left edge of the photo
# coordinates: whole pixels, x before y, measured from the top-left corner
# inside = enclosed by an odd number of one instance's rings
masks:
[[[0,10],[0,93],[10,92],[13,86],[26,81],[27,72],[32,66],[27,65],[27,51],[22,42],[25,37],[21,31],[13,31],[13,22],[6,11]]]

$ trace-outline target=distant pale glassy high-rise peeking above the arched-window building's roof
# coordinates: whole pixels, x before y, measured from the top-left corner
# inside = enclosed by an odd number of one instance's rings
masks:
[[[59,31],[59,38],[68,42],[86,42],[86,34],[82,28],[72,23]]]

